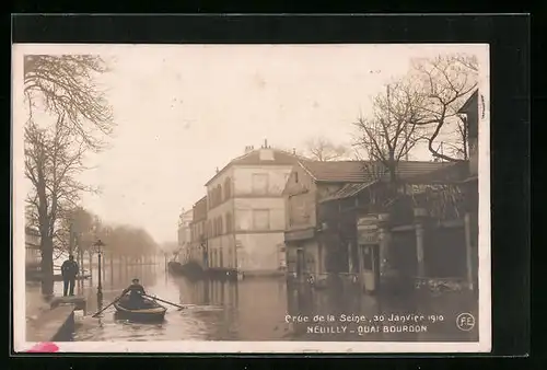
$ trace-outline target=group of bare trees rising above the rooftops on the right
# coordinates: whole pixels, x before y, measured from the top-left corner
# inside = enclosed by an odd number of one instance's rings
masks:
[[[478,85],[475,56],[452,54],[416,59],[406,76],[372,99],[372,109],[353,123],[352,148],[318,137],[304,155],[317,161],[366,159],[396,176],[399,161],[424,143],[437,160],[468,160],[467,125],[458,114]]]

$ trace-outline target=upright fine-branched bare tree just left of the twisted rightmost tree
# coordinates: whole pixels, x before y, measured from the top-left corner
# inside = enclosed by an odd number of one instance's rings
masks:
[[[397,181],[397,165],[405,160],[422,139],[421,128],[414,125],[417,96],[406,81],[399,80],[389,85],[384,93],[373,99],[370,117],[359,117],[354,147],[368,159],[369,171],[374,177],[389,175]]]

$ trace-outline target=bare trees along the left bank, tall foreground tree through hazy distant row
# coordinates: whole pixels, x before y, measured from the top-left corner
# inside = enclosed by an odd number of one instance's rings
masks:
[[[56,251],[74,245],[89,250],[95,238],[120,253],[155,246],[146,231],[103,226],[79,206],[83,193],[98,190],[79,181],[85,159],[106,149],[115,128],[112,107],[97,85],[107,71],[107,62],[93,55],[24,56],[25,176],[32,184],[26,222],[40,234],[45,294],[53,293]]]

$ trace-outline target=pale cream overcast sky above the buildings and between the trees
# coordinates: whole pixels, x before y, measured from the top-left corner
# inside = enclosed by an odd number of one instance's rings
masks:
[[[117,127],[112,148],[90,158],[96,167],[83,180],[102,194],[83,205],[158,242],[176,240],[182,208],[245,146],[350,142],[359,112],[410,58],[456,50],[477,46],[103,46],[114,61],[101,82]]]

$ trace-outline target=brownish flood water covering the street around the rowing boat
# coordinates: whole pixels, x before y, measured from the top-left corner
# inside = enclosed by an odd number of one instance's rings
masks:
[[[314,290],[281,278],[246,278],[237,282],[188,281],[173,277],[163,264],[108,267],[103,279],[103,307],[138,277],[147,293],[185,305],[165,304],[165,321],[143,324],[101,317],[97,277],[80,284],[88,312],[77,316],[73,340],[477,340],[473,329],[457,327],[459,313],[477,317],[463,293],[433,298],[371,297],[344,289]],[[62,293],[61,284],[56,285]],[[418,317],[420,316],[420,317]],[[418,317],[418,319],[417,319]],[[385,327],[384,327],[385,326]]]

